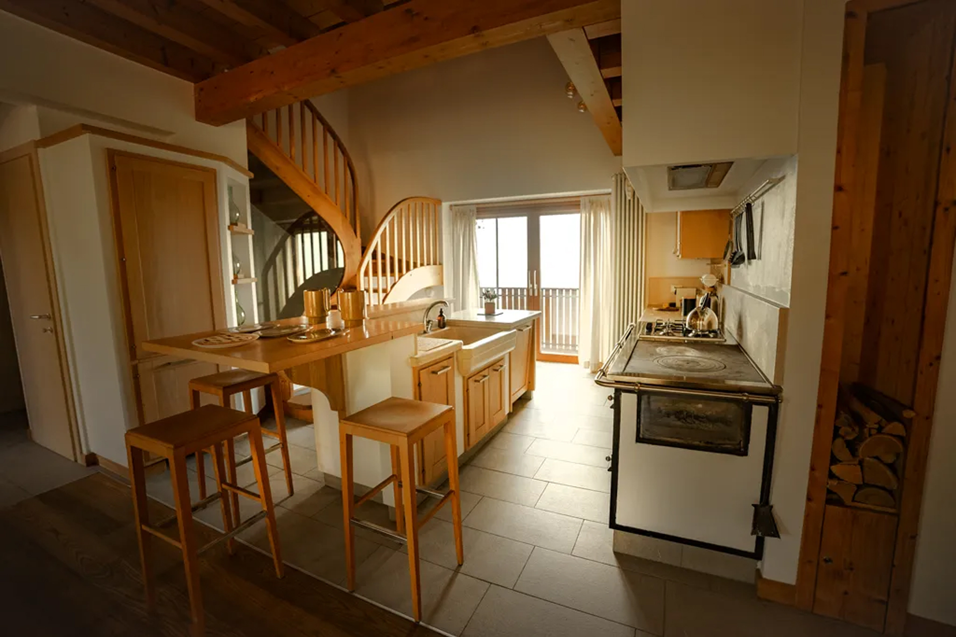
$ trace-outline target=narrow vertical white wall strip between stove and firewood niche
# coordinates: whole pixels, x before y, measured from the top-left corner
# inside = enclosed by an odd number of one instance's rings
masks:
[[[805,0],[802,18],[799,179],[783,372],[786,381],[771,491],[781,538],[767,541],[761,566],[765,578],[788,584],[796,582],[823,343],[843,10],[839,0]]]

